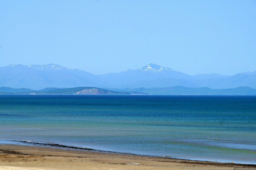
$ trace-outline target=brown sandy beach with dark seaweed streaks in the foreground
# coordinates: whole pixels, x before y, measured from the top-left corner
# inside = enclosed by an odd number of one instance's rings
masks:
[[[189,161],[109,152],[0,145],[0,169],[233,169],[235,163]]]

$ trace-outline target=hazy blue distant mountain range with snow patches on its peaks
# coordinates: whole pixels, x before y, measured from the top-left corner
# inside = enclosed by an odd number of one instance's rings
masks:
[[[71,87],[123,88],[165,88],[183,86],[190,88],[208,87],[228,89],[240,86],[256,88],[256,71],[235,75],[198,74],[188,75],[156,64],[148,64],[137,70],[120,73],[94,75],[89,72],[70,69],[57,64],[9,65],[0,67],[0,87],[44,89]]]

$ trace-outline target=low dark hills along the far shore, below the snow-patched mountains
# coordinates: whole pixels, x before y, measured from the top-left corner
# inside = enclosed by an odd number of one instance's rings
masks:
[[[102,89],[98,87],[73,88],[45,88],[34,91],[32,89],[15,89],[0,87],[0,94],[31,94],[31,95],[256,95],[256,89],[251,87],[237,87],[233,89],[210,89],[208,87],[191,88],[183,86],[164,88],[137,89]]]

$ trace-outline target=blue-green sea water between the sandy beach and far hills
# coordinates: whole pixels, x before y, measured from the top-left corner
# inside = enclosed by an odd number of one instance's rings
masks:
[[[0,95],[13,140],[256,164],[256,96]]]

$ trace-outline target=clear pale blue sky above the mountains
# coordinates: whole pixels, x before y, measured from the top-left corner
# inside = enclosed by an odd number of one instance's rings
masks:
[[[256,70],[256,1],[0,1],[0,67],[93,74],[149,63],[190,75]]]

